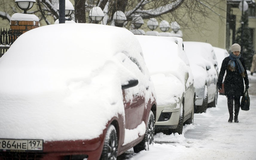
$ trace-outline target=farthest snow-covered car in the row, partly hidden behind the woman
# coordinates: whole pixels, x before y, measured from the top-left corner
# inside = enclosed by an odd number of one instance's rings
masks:
[[[223,61],[224,58],[229,56],[229,52],[227,52],[226,49],[222,49],[222,48],[218,48],[218,47],[213,47],[213,48],[214,48],[214,52],[215,52],[215,55],[216,55],[216,58],[217,58],[217,61],[218,61],[218,69],[219,69],[219,72],[220,72],[222,61]],[[222,95],[225,94],[225,90],[224,90],[225,76],[226,76],[226,73],[225,73],[223,81],[222,81],[222,89],[219,90],[219,94],[222,94]]]

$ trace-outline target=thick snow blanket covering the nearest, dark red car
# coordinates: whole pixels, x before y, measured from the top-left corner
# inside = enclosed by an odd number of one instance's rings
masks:
[[[124,116],[121,85],[139,81],[127,101],[133,92],[152,98],[141,52],[130,31],[113,26],[59,24],[22,34],[0,58],[0,137],[98,137],[108,120]]]

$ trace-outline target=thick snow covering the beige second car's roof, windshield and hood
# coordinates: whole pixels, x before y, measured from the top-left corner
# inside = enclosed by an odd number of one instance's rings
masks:
[[[179,57],[178,44],[170,37],[136,37],[155,85],[157,105],[177,103],[185,92],[185,72],[189,72],[189,67]],[[192,75],[187,83],[193,83]]]

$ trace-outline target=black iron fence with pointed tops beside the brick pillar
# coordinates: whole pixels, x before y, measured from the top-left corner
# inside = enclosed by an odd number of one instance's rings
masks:
[[[21,31],[10,30],[10,29],[0,29],[0,57],[10,48],[13,42],[21,36]]]

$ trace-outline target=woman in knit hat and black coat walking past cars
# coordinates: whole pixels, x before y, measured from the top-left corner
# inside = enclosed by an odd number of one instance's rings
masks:
[[[222,62],[217,82],[218,89],[221,89],[223,76],[226,71],[224,90],[227,97],[227,108],[229,109],[228,122],[230,123],[233,121],[233,109],[235,110],[234,122],[239,122],[238,113],[240,110],[240,97],[244,94],[244,82],[245,88],[249,88],[249,79],[245,68],[245,62],[241,57],[240,51],[241,46],[239,44],[235,43],[231,46],[229,57],[226,57]]]

